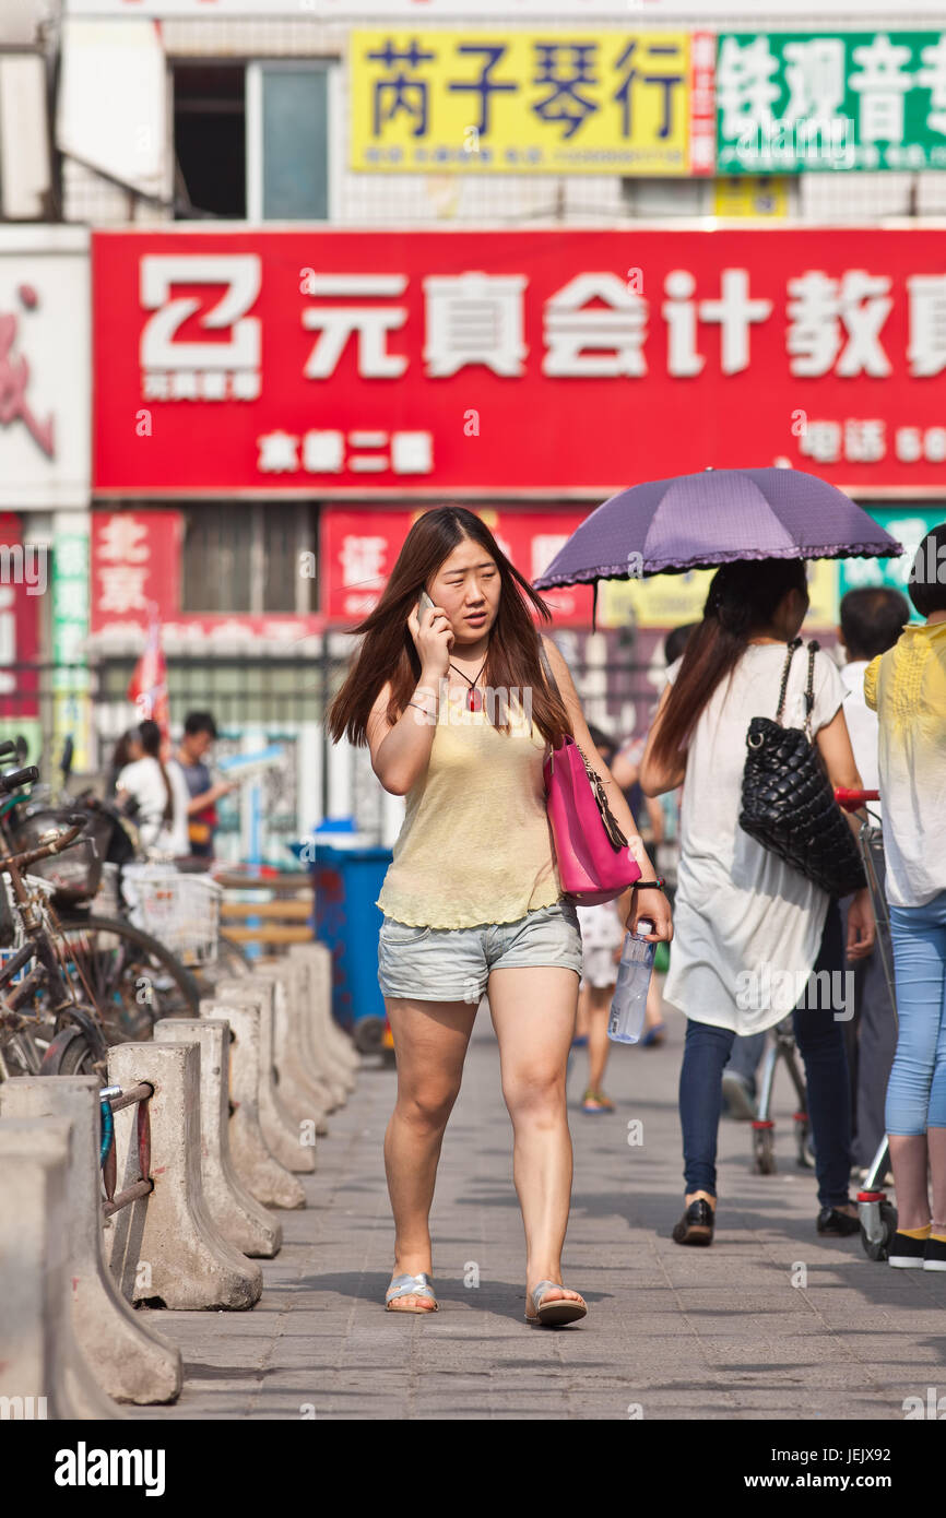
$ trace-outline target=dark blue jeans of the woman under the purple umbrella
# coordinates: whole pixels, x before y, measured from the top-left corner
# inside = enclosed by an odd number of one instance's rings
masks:
[[[837,902],[828,908],[814,970],[843,970],[844,946]],[[805,999],[805,997],[803,997]],[[821,1207],[847,1201],[850,1175],[850,1088],[844,1025],[831,1011],[796,1006],[791,1014],[808,1084],[808,1119],[815,1151]],[[723,1093],[720,1079],[732,1052],[732,1028],[686,1020],[680,1070],[680,1126],[686,1192],[717,1195],[717,1135]]]

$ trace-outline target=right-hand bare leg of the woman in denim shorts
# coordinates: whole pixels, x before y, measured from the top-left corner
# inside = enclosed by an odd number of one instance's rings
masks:
[[[493,970],[489,1006],[513,1126],[513,1179],[525,1228],[525,1284],[560,1281],[571,1201],[565,1066],[579,981],[554,965]],[[579,1298],[577,1292],[550,1292]]]

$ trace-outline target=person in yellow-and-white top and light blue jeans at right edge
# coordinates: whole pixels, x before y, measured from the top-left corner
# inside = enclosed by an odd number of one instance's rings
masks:
[[[946,1271],[946,522],[920,543],[908,589],[926,621],[864,674],[879,718],[899,1020],[885,1111],[899,1219],[887,1260]]]

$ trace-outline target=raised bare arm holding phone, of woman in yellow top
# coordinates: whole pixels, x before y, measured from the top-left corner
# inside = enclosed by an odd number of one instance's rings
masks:
[[[392,795],[407,795],[430,762],[430,750],[437,727],[440,680],[449,665],[453,628],[446,612],[428,609],[422,624],[412,612],[407,625],[421,656],[421,679],[396,723],[387,720],[390,683],[386,683],[367,718],[371,765],[378,780]]]

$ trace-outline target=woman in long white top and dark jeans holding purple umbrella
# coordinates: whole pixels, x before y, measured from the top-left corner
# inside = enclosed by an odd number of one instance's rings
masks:
[[[747,730],[774,716],[787,645],[808,610],[806,559],[890,557],[902,545],[841,490],[794,469],[705,471],[651,480],[606,501],[579,527],[541,589],[717,569],[703,621],[668,671],[641,765],[645,795],[683,785],[676,934],[664,999],[686,1014],[680,1119],[686,1204],[674,1239],[709,1245],[717,1205],[721,1073],[735,1035],[791,1011],[808,1078],[818,1233],[853,1234],[847,1196],[850,1111],[843,1023],[847,1008],[811,1006],[811,985],[844,984],[837,900],[739,827]],[[859,789],[832,660],[788,663],[784,724],[805,726],[831,783]],[[847,918],[847,953],[873,944],[867,891]],[[812,981],[812,972],[834,972]],[[770,988],[779,985],[782,996]],[[787,999],[784,988],[802,988]],[[787,1002],[787,1005],[785,1005]],[[803,1002],[806,1005],[797,1005]]]

